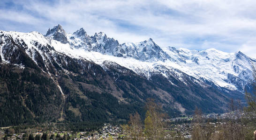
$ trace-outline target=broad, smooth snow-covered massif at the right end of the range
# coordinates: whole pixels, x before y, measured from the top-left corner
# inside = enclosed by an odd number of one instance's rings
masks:
[[[242,92],[247,82],[253,80],[252,63],[255,63],[255,60],[241,52],[226,53],[218,49],[198,51],[169,47],[166,53],[177,60],[175,63],[182,66],[185,73],[197,78],[202,77],[220,87]]]

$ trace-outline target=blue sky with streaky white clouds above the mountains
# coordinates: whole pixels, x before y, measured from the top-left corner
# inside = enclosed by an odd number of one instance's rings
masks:
[[[256,58],[255,0],[0,0],[0,30],[39,31],[60,24],[83,27],[123,42],[152,38],[172,46]]]

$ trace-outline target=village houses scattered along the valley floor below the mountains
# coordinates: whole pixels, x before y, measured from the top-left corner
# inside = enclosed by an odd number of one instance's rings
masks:
[[[203,119],[228,119],[230,113],[216,114],[211,113],[202,115]],[[172,119],[166,119],[165,137],[177,137],[183,139],[191,139],[191,132],[193,129],[193,116],[189,117],[177,117]],[[225,122],[209,122],[210,125],[216,127],[223,125]],[[112,125],[105,123],[98,131],[91,132],[73,132],[73,131],[47,131],[43,132],[38,130],[36,133],[32,133],[35,138],[37,135],[42,137],[44,133],[47,133],[47,140],[53,140],[60,137],[62,140],[120,140],[130,138],[130,132],[125,131],[122,125]],[[29,134],[27,133],[15,133],[13,131],[8,132],[8,127],[2,127],[0,129],[0,139],[4,139],[7,136],[7,140],[28,140]],[[65,137],[65,138],[64,138]],[[41,139],[40,139],[41,140]],[[43,139],[42,139],[43,140]],[[61,140],[61,139],[60,139]]]

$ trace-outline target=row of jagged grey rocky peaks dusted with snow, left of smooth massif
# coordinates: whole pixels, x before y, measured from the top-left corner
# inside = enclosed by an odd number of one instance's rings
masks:
[[[117,40],[107,37],[103,32],[89,36],[83,28],[80,28],[73,34],[66,34],[60,24],[49,29],[45,36],[64,44],[69,43],[71,48],[83,48],[87,51],[96,51],[111,56],[131,57],[147,62],[174,61],[152,38],[143,42],[124,43],[120,45]]]

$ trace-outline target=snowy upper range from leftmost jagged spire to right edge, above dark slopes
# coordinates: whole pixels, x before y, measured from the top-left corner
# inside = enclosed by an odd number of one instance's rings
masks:
[[[163,50],[151,38],[120,44],[103,32],[87,35],[83,28],[66,34],[60,25],[49,29],[45,37],[61,53],[90,59],[100,65],[105,60],[112,61],[147,78],[153,72],[168,77],[165,70],[159,69],[159,66],[165,66],[165,69],[175,72],[176,77],[179,77],[179,72],[175,70],[180,70],[196,79],[207,79],[217,86],[241,92],[254,79],[252,66],[256,59],[240,51],[226,53],[217,49],[198,51],[174,47]]]

